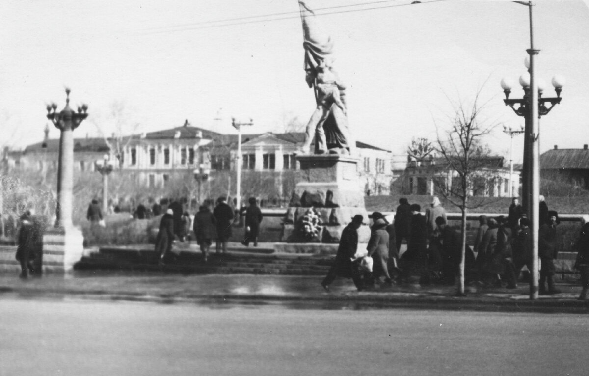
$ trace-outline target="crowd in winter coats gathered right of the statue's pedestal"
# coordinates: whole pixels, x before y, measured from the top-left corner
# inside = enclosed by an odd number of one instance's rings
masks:
[[[556,227],[560,220],[555,210],[548,210],[544,197],[540,199],[540,213],[539,292],[552,295],[560,293],[554,283]],[[373,288],[375,283],[392,285],[395,279],[398,284],[411,283],[413,278],[419,278],[422,285],[456,282],[462,260],[462,236],[448,225],[438,197],[425,210],[425,216],[418,204],[409,204],[406,198],[401,198],[392,224],[380,212],[373,212],[371,217],[373,225],[366,254],[358,251],[358,229],[364,220],[358,215],[342,233],[335,262],[322,281],[323,288],[328,290],[336,276],[352,278],[358,290]],[[581,273],[583,285],[580,299],[589,299],[589,216],[584,216],[581,224],[574,246],[578,252],[575,268]],[[465,246],[466,283],[517,288],[522,268],[527,266],[531,270],[530,227],[530,219],[517,198],[512,200],[507,217],[480,216],[474,248]],[[407,247],[401,254],[403,240]],[[372,258],[371,271],[362,267],[364,256]]]

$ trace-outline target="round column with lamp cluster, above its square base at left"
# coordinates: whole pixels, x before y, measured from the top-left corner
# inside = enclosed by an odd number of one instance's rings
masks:
[[[74,186],[74,129],[88,117],[88,105],[78,106],[75,112],[70,108],[70,89],[65,107],[57,112],[57,104],[47,105],[47,118],[61,131],[59,137],[59,160],[57,171],[57,208],[55,227],[72,227],[72,189]]]

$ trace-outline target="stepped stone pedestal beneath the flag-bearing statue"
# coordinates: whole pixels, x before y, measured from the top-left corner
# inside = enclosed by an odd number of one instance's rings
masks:
[[[338,154],[297,156],[302,179],[296,184],[284,218],[281,240],[299,242],[339,242],[343,228],[360,214],[368,223],[364,194],[360,190],[359,159]],[[302,217],[313,208],[319,216],[319,236],[307,238],[300,230]],[[359,241],[368,242],[370,229],[360,226]]]

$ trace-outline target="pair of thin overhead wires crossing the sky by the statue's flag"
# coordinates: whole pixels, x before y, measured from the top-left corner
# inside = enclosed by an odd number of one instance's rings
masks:
[[[374,5],[374,4],[382,4],[388,2],[398,2],[399,0],[385,0],[385,1],[376,1],[376,2],[368,2],[363,4],[352,4],[352,5],[340,5],[340,6],[331,6],[327,8],[319,8],[314,9],[315,16],[323,16],[323,15],[332,15],[332,14],[345,14],[351,12],[362,12],[362,11],[372,11],[375,9],[386,9],[386,8],[395,8],[397,6],[408,6],[408,5],[416,5],[416,4],[429,4],[434,2],[442,2],[442,1],[449,1],[449,0],[430,0],[424,2],[411,2],[405,4],[393,4],[393,5],[385,5],[385,6],[373,6],[369,8],[360,8],[360,9],[345,9],[340,11],[333,11],[333,12],[322,12],[329,9],[340,9],[340,8],[350,8],[352,6],[366,6],[366,5]],[[319,11],[319,12],[317,12]],[[292,14],[292,15],[290,15]],[[285,15],[286,17],[276,17]],[[263,18],[269,17],[269,18]],[[272,18],[276,17],[276,18]],[[256,19],[256,18],[263,18],[263,19]],[[161,27],[160,29],[167,28],[167,30],[158,30],[157,28],[154,31],[146,32],[145,34],[163,34],[168,32],[181,32],[181,31],[190,31],[190,30],[197,30],[197,29],[207,29],[207,28],[218,28],[218,27],[227,27],[227,26],[235,26],[235,25],[246,25],[246,24],[259,24],[260,22],[270,22],[270,21],[282,21],[284,19],[294,19],[300,18],[299,12],[282,12],[282,13],[275,13],[275,14],[268,14],[268,15],[259,15],[259,16],[248,16],[248,17],[238,17],[238,18],[228,18],[228,19],[220,19],[217,21],[202,21],[202,22],[195,22],[192,24],[183,24],[183,25],[172,25],[168,27]],[[237,22],[232,22],[237,21]],[[149,30],[149,29],[148,29]]]

